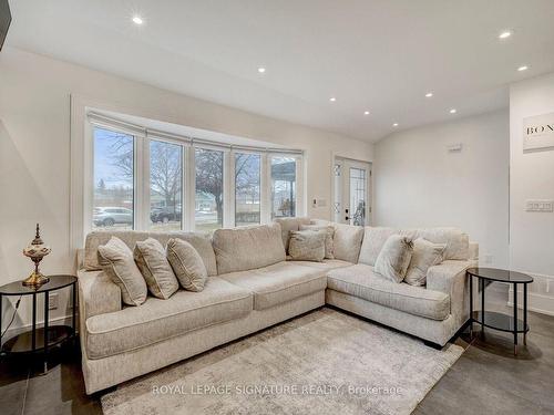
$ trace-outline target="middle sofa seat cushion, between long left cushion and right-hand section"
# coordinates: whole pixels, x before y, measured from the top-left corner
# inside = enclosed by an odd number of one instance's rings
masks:
[[[291,262],[219,277],[249,290],[254,294],[254,310],[265,310],[327,287],[325,270]]]

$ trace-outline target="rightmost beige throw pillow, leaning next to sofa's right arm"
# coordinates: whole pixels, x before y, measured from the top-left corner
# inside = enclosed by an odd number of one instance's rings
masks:
[[[413,241],[413,253],[404,281],[410,286],[424,286],[430,267],[442,262],[447,243],[433,243],[423,238]]]

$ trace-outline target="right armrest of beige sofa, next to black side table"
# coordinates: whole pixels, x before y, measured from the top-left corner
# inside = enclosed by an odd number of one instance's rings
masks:
[[[465,271],[475,266],[475,260],[447,260],[429,268],[427,272],[427,289],[450,295],[450,313],[459,324],[469,318],[470,290]]]

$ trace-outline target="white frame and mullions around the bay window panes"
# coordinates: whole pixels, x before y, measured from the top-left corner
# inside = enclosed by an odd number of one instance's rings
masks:
[[[178,144],[183,153],[182,229],[194,231],[196,168],[194,148],[215,149],[224,153],[224,221],[223,227],[235,226],[235,154],[258,154],[260,156],[260,224],[271,221],[270,157],[295,157],[296,165],[296,215],[306,212],[304,194],[304,151],[280,149],[228,144],[196,139],[186,136],[148,129],[142,126],[112,120],[88,112],[81,100],[72,97],[72,148],[71,148],[71,248],[81,248],[85,236],[92,231],[94,200],[94,126],[132,135],[134,137],[134,229],[150,230],[150,142],[151,139]],[[79,124],[84,127],[79,131]],[[73,129],[75,129],[73,132]]]

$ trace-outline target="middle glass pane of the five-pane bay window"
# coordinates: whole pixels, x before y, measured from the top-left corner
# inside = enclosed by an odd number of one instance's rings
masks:
[[[195,149],[196,195],[194,220],[198,231],[223,227],[223,152]]]

